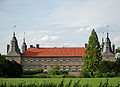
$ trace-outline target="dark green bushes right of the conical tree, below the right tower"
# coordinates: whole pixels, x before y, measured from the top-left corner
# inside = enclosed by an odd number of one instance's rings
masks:
[[[94,77],[116,77],[120,73],[120,61],[116,62],[101,61],[98,70],[94,72]],[[118,73],[118,74],[117,74]]]

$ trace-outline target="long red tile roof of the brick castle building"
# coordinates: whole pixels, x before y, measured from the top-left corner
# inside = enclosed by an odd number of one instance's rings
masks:
[[[61,48],[29,48],[23,53],[23,57],[73,57],[84,56],[84,47],[61,47]]]

